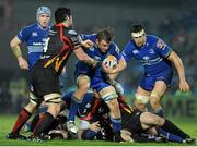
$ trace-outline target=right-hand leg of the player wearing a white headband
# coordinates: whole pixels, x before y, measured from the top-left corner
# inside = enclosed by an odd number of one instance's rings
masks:
[[[153,112],[159,114],[160,117],[163,117],[161,99],[165,94],[166,89],[167,86],[164,81],[157,81],[154,88],[152,89],[150,95],[150,106],[153,109]]]

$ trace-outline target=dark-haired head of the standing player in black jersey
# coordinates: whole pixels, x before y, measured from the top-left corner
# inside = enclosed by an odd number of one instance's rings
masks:
[[[72,25],[72,16],[70,9],[58,8],[55,12],[56,24],[65,23],[67,26]]]

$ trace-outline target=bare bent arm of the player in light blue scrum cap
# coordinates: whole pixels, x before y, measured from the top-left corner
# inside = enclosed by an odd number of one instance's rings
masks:
[[[15,58],[18,59],[19,66],[21,69],[23,69],[23,70],[27,70],[28,69],[28,64],[27,64],[26,60],[22,57],[20,44],[21,44],[21,40],[19,39],[18,36],[15,36],[11,40],[10,47],[11,47]]]

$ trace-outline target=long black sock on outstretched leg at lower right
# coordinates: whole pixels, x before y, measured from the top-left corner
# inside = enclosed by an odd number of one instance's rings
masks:
[[[188,138],[189,135],[185,134],[182,130],[179,130],[176,125],[174,125],[171,121],[165,119],[165,122],[163,126],[161,126],[162,130],[173,133],[174,135],[177,135],[182,137],[183,139]]]

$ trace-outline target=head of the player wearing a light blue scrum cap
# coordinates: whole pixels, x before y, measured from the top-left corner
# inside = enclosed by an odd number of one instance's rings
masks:
[[[47,27],[50,21],[51,11],[48,7],[39,7],[36,12],[37,22],[42,27]]]

